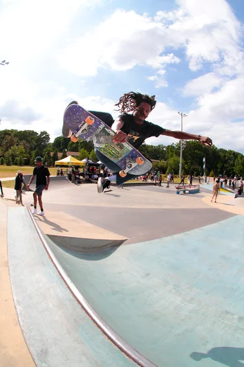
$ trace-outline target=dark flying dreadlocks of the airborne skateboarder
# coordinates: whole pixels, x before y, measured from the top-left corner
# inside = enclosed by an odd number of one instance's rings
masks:
[[[149,97],[147,94],[129,92],[120,97],[119,102],[115,106],[118,106],[118,111],[124,114],[124,112],[128,113],[138,109],[141,102],[147,102],[151,106],[151,109],[153,109],[157,101],[155,100],[155,96]]]

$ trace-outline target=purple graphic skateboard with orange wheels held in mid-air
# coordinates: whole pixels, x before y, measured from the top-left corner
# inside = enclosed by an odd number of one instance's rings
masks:
[[[129,143],[115,143],[115,132],[100,118],[79,105],[69,105],[64,111],[64,122],[75,138],[93,144],[95,150],[120,166],[120,176],[127,173],[140,176],[149,172],[152,163]]]

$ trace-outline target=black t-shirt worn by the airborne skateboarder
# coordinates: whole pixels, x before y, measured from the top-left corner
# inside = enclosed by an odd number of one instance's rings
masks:
[[[121,128],[122,132],[125,132],[129,138],[128,143],[133,145],[136,149],[142,145],[145,139],[151,136],[160,136],[165,129],[159,125],[149,123],[149,121],[144,120],[142,125],[135,123],[134,116],[131,114],[121,114],[119,116],[124,125]]]

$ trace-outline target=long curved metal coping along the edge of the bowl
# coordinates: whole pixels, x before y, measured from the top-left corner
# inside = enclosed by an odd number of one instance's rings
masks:
[[[52,260],[53,264],[55,265],[57,271],[59,272],[59,275],[64,280],[64,283],[66,283],[68,289],[71,290],[73,296],[77,299],[77,302],[79,305],[82,306],[86,314],[91,317],[93,322],[102,330],[102,332],[108,337],[114,344],[117,346],[127,357],[132,359],[135,363],[137,363],[141,367],[157,367],[156,364],[153,364],[153,362],[149,361],[146,357],[140,354],[137,350],[132,348],[124,339],[120,337],[113,329],[109,327],[109,325],[106,324],[106,322],[100,317],[95,310],[89,305],[89,303],[86,301],[86,298],[82,296],[82,294],[79,292],[77,287],[73,284],[71,279],[68,277],[66,272],[64,271],[62,265],[59,263],[55,255],[53,254],[53,251],[51,251],[50,247],[48,246],[48,243],[46,242],[46,239],[44,238],[44,235],[41,233],[39,227],[37,226],[37,223],[35,222],[35,219],[30,211],[30,208],[27,206],[28,213],[30,214],[30,218],[35,226],[35,229],[39,235],[39,238],[41,240],[41,243],[44,245],[44,248],[46,249],[46,252],[48,253],[48,256],[50,260]]]

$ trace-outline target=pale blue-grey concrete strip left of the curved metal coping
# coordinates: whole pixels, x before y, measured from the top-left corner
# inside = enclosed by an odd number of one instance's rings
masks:
[[[8,223],[12,292],[37,366],[135,366],[77,303],[48,257],[27,209],[8,208]]]

